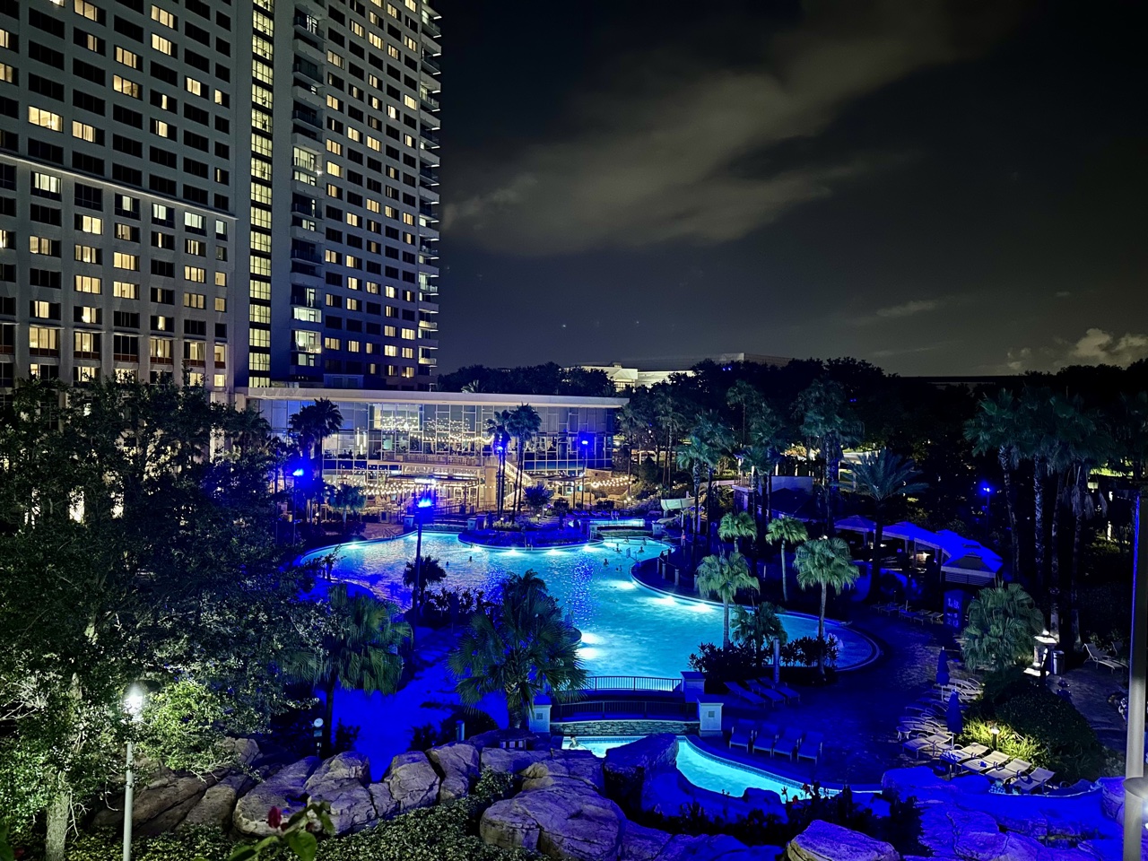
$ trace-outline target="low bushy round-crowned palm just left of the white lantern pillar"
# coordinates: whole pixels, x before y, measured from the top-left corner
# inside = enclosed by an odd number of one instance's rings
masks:
[[[1004,669],[1032,657],[1045,616],[1019,583],[982,589],[969,604],[961,652],[965,666]]]

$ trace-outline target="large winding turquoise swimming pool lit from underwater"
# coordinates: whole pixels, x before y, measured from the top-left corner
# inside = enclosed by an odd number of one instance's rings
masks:
[[[343,544],[332,573],[338,580],[410,606],[411,590],[403,585],[403,568],[414,558],[414,536],[406,535]],[[630,577],[635,560],[665,549],[660,542],[630,538],[564,550],[487,550],[456,535],[422,534],[424,556],[437,558],[447,568],[442,587],[492,590],[509,574],[528,568],[537,572],[582,631],[582,660],[594,676],[676,677],[689,669],[690,653],[699,643],[721,642],[720,606],[661,595]],[[319,550],[308,558],[328,552]],[[790,614],[782,619],[791,639],[817,634],[816,619]],[[828,622],[827,628],[840,638],[840,668],[874,657],[876,646],[868,637]]]

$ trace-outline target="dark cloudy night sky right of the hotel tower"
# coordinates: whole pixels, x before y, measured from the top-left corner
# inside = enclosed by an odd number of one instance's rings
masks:
[[[1148,356],[1148,5],[437,0],[441,369]]]

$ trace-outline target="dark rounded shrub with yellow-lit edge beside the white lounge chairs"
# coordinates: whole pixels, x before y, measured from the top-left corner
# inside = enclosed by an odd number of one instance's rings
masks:
[[[1104,747],[1084,715],[1019,670],[985,678],[984,695],[965,715],[964,737],[991,744],[993,722],[1000,730],[999,750],[1055,771],[1057,779],[1092,781],[1104,768]]]

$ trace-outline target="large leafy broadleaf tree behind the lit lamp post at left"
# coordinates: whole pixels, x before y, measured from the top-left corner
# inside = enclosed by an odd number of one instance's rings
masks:
[[[0,806],[46,813],[52,861],[121,743],[148,743],[131,683],[195,680],[196,713],[225,718],[188,739],[262,731],[290,703],[277,659],[309,629],[312,575],[276,545],[257,433],[202,388],[108,380],[22,385],[0,420]]]

